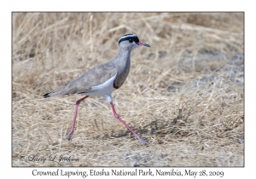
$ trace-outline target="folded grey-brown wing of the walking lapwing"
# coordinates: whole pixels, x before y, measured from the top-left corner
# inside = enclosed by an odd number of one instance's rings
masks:
[[[90,69],[90,71],[85,72],[81,77],[59,86],[55,90],[45,94],[44,97],[90,92],[91,87],[103,84],[115,74],[117,74],[117,70],[114,64],[108,62]]]

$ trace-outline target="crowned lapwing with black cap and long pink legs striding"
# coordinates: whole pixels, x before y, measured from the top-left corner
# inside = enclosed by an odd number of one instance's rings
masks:
[[[113,111],[114,118],[117,118],[131,133],[137,137],[143,144],[149,144],[141,136],[131,129],[125,121],[119,117],[113,107],[112,92],[118,90],[127,78],[131,66],[131,51],[137,47],[149,47],[148,43],[139,41],[136,34],[125,34],[119,38],[119,54],[113,60],[95,66],[88,72],[85,72],[79,78],[57,87],[55,90],[50,91],[44,95],[44,98],[53,97],[56,95],[71,95],[82,94],[83,98],[76,101],[75,112],[73,116],[73,124],[70,132],[67,135],[67,140],[70,141],[73,136],[75,122],[79,110],[79,104],[89,96],[101,95],[109,102]]]

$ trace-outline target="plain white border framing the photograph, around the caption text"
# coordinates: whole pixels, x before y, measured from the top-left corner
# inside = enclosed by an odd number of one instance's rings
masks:
[[[249,2],[249,1],[248,1]],[[250,1],[253,2],[253,1]],[[255,177],[255,10],[254,3],[246,1],[9,1],[1,3],[1,162],[0,176],[3,178],[16,177],[35,178],[32,176],[33,168],[11,167],[11,12],[12,11],[245,11],[245,168],[206,168],[206,170],[224,170],[223,178],[242,178],[246,176]],[[253,118],[254,117],[254,118]],[[99,168],[63,168],[65,170],[90,170]],[[108,168],[111,170],[111,168]],[[115,168],[118,169],[118,168]],[[125,168],[132,170],[133,168]],[[155,170],[157,168],[153,168]],[[185,168],[175,168],[184,170]],[[191,170],[202,170],[203,168],[191,168]],[[39,170],[56,170],[56,168],[39,168]],[[45,178],[46,176],[40,176]],[[61,177],[61,176],[59,176]],[[169,176],[170,177],[170,176]],[[67,178],[67,177],[65,177]],[[74,178],[74,176],[73,176]],[[81,178],[81,176],[79,176]],[[90,177],[89,177],[90,178]],[[119,178],[112,176],[111,178]],[[146,177],[145,177],[146,178]],[[173,178],[173,176],[172,176]],[[193,178],[193,177],[189,177]],[[250,177],[253,178],[253,177]]]

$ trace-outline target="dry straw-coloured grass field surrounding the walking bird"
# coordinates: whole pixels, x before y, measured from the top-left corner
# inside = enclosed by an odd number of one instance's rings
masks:
[[[243,166],[243,15],[14,13],[13,166]],[[125,33],[151,49],[132,52],[113,102],[150,145],[126,131],[102,97],[81,103],[66,141],[82,95],[43,95],[113,59]]]

